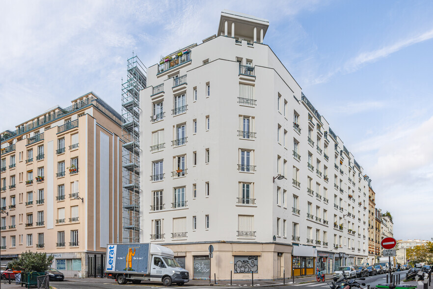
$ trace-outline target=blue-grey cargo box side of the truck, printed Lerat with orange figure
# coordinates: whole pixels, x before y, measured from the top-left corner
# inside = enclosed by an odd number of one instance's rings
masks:
[[[149,243],[109,244],[106,271],[147,274],[149,258]]]

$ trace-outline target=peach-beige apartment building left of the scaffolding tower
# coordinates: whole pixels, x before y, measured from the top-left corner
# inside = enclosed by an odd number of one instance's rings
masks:
[[[121,125],[90,92],[1,133],[2,264],[30,250],[66,277],[100,269],[122,240]]]

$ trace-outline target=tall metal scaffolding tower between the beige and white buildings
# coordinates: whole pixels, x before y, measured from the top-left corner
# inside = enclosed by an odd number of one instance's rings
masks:
[[[146,66],[134,56],[128,59],[128,75],[122,81],[123,242],[140,241],[140,90],[146,87]]]

